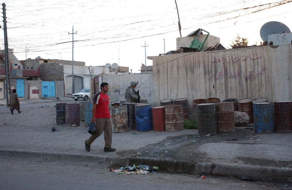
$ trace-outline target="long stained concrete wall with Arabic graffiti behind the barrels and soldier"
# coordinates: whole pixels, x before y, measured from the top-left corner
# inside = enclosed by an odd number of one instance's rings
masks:
[[[169,54],[153,59],[153,74],[105,75],[112,101],[124,100],[132,80],[152,106],[160,100],[187,98],[260,98],[292,101],[292,45]]]

